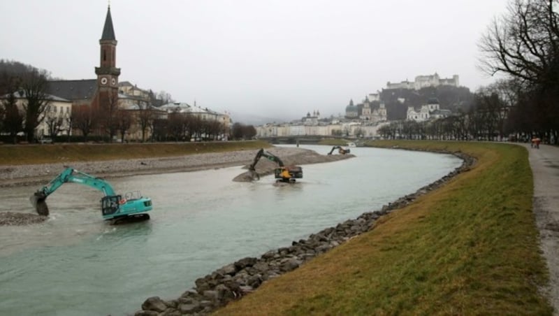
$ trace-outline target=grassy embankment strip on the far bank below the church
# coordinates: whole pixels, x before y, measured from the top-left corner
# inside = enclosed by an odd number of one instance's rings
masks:
[[[176,157],[203,152],[229,152],[268,148],[262,141],[208,142],[208,143],[133,143],[133,144],[49,144],[2,145],[0,165],[47,164],[65,161],[99,161],[111,159],[137,159]]]

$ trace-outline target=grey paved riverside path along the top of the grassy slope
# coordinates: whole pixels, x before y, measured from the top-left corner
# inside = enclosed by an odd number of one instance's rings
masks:
[[[542,251],[549,268],[549,292],[554,315],[559,315],[559,147],[539,145],[530,148],[534,175],[532,208],[536,217]]]

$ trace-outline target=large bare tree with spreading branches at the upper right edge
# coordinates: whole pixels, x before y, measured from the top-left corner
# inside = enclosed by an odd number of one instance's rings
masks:
[[[511,0],[479,43],[481,69],[501,75],[495,93],[507,106],[505,129],[553,143],[559,130],[558,0]]]

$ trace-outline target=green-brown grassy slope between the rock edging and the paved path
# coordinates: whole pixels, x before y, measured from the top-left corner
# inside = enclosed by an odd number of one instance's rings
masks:
[[[460,150],[477,164],[382,217],[372,231],[266,282],[217,315],[551,315],[538,292],[548,275],[525,148],[370,145]]]

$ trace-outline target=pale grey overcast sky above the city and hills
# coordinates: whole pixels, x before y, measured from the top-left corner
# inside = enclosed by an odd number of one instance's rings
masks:
[[[119,81],[238,121],[337,115],[387,81],[435,72],[474,91],[493,82],[477,69],[477,43],[507,2],[112,0],[110,10]],[[96,78],[107,7],[0,0],[0,59]]]

